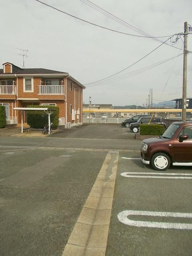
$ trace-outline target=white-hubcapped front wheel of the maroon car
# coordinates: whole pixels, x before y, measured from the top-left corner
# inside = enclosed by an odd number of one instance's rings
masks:
[[[171,160],[168,155],[164,153],[156,153],[151,158],[151,165],[155,170],[165,171],[169,168]]]

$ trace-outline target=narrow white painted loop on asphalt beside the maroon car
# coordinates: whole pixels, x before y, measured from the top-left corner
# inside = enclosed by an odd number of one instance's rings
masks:
[[[122,172],[121,176],[126,177],[126,178],[153,178],[153,179],[188,179],[192,180],[192,177],[176,177],[176,176],[143,176],[143,175],[128,175],[128,174],[155,174],[155,175],[160,175],[159,173],[154,173],[154,172]],[[172,173],[165,173],[163,175],[188,175],[191,176],[192,174],[172,174]]]

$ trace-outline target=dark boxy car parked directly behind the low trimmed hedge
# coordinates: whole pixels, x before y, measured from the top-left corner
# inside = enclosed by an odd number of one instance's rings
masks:
[[[159,117],[159,116],[158,117],[144,116],[144,117],[140,117],[137,122],[130,124],[130,130],[132,132],[138,132],[140,124],[148,124],[149,122],[150,122],[150,124],[161,124],[166,128],[166,124],[165,124],[162,117]]]

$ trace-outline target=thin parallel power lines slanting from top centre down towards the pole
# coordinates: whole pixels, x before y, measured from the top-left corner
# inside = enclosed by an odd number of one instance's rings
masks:
[[[160,39],[158,39],[157,37],[152,37],[150,34],[147,34],[146,32],[144,32],[144,31],[142,31],[142,30],[136,28],[135,26],[132,26],[132,25],[129,24],[128,22],[126,22],[126,21],[124,21],[124,20],[118,18],[118,17],[115,16],[114,14],[111,14],[110,12],[104,10],[103,8],[101,8],[100,6],[94,4],[93,2],[91,2],[91,1],[89,1],[89,0],[80,0],[80,1],[83,2],[84,4],[90,6],[90,7],[93,8],[94,10],[97,10],[98,12],[104,14],[105,16],[108,16],[109,18],[115,20],[116,22],[118,22],[118,23],[120,23],[120,24],[122,24],[122,25],[124,25],[124,26],[127,26],[128,28],[131,28],[132,30],[134,30],[134,31],[136,31],[136,32],[138,32],[138,33],[140,33],[140,34],[147,35],[149,38],[152,38],[152,39],[154,39],[154,40],[156,40],[156,41],[159,41],[159,42],[163,42],[163,41],[161,41]],[[168,44],[168,43],[165,43],[165,44],[167,44],[168,46],[171,46],[171,47],[174,47],[174,48],[180,50],[180,48],[175,47],[175,46],[173,46],[173,45],[171,45],[171,44]]]

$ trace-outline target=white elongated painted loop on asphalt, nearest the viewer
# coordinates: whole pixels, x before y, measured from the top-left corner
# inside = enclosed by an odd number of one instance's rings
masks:
[[[118,220],[123,224],[135,227],[148,227],[148,228],[172,228],[172,229],[192,229],[192,224],[188,223],[174,223],[174,222],[152,222],[152,221],[138,221],[130,220],[128,216],[158,216],[158,217],[173,217],[173,218],[192,218],[192,213],[182,212],[147,212],[147,211],[134,211],[127,210],[118,214]]]

